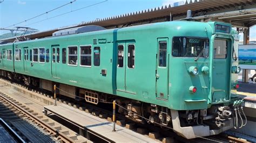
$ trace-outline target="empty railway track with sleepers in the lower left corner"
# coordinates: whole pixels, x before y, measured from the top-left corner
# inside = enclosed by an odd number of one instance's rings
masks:
[[[70,134],[68,130],[64,133],[63,127],[57,125],[55,121],[39,115],[3,92],[0,92],[0,102],[1,113],[4,114],[5,121],[7,120],[15,127],[15,130],[23,134],[23,138],[28,142],[88,141],[80,135]]]

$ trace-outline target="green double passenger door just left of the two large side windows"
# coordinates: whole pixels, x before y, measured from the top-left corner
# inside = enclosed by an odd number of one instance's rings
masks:
[[[57,49],[59,51],[59,46],[58,45],[52,45],[51,46],[51,53],[52,53],[52,61],[51,61],[51,75],[54,78],[58,78],[57,75],[57,61],[59,62],[59,59],[57,57]]]

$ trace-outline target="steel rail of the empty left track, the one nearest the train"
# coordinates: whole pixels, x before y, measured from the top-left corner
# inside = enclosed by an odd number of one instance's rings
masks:
[[[8,98],[4,96],[5,94],[3,92],[0,92],[0,97],[3,98],[6,102],[10,103],[12,106],[14,106],[16,109],[22,111],[23,113],[26,114],[29,118],[35,120],[37,123],[41,124],[43,128],[47,128],[48,131],[55,133],[60,139],[64,142],[73,142],[73,139],[67,137],[65,134],[62,132],[59,132],[55,128],[51,127],[50,125],[46,124],[43,120],[39,119],[38,117],[32,115],[29,111],[26,111],[25,109],[21,108],[21,106],[17,105],[16,103],[10,101]]]

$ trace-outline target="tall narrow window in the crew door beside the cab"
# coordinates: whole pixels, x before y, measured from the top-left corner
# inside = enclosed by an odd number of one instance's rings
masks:
[[[159,54],[158,66],[166,67],[166,57],[167,57],[167,42],[166,41],[159,42],[158,54]]]

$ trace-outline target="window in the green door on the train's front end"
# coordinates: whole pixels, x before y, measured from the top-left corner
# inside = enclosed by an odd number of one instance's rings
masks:
[[[214,59],[227,58],[227,40],[214,40]]]

